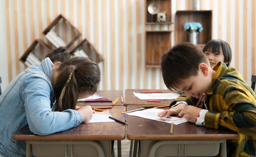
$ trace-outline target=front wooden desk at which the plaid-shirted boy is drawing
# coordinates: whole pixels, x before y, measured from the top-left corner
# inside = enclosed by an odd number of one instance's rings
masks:
[[[127,111],[142,106],[128,105]],[[135,140],[134,156],[137,155],[136,142],[140,142],[138,157],[215,156],[219,150],[222,157],[227,157],[226,140],[238,139],[236,132],[210,129],[189,122],[174,125],[173,135],[170,134],[169,123],[129,115],[127,123],[127,139]]]

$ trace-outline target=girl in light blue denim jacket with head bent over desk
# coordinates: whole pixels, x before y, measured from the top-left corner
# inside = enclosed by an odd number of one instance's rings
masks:
[[[97,63],[86,57],[56,67],[47,57],[21,72],[0,95],[0,156],[26,155],[26,142],[12,136],[27,124],[34,134],[49,135],[90,121],[94,110],[76,102],[94,94],[100,80]]]

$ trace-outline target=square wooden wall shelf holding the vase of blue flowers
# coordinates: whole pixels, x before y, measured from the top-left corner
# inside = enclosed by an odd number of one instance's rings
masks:
[[[175,43],[188,42],[187,31],[183,25],[186,22],[200,22],[203,30],[198,33],[198,46],[203,47],[212,39],[212,11],[211,10],[184,10],[175,14]]]

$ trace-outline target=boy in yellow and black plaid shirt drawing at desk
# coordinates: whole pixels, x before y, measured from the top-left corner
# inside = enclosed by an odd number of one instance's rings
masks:
[[[184,93],[159,117],[178,115],[199,126],[238,132],[237,140],[227,140],[228,156],[256,156],[256,95],[236,69],[223,62],[212,69],[192,43],[168,49],[161,68],[166,87]],[[195,107],[201,97],[205,103]]]

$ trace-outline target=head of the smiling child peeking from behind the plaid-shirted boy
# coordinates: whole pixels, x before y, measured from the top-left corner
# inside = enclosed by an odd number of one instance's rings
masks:
[[[213,39],[208,41],[203,48],[203,52],[209,59],[211,67],[214,67],[219,61],[226,63],[227,67],[231,63],[231,47],[224,40]]]

